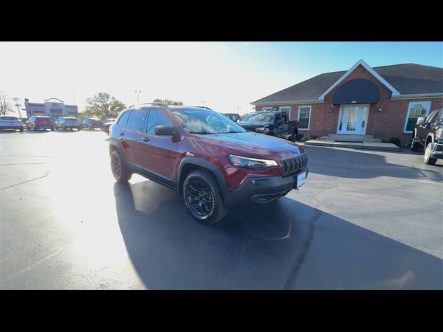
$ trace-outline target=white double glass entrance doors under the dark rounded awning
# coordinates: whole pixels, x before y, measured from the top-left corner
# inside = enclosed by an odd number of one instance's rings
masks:
[[[368,122],[369,105],[343,105],[338,114],[337,133],[364,135]]]

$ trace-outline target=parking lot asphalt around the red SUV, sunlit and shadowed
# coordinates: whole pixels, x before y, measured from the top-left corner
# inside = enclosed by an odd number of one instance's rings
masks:
[[[442,289],[442,160],[305,149],[298,192],[205,226],[173,190],[116,183],[99,130],[2,132],[0,288]]]

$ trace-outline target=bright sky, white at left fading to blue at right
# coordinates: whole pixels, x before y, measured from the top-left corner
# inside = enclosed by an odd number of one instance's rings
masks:
[[[1,42],[7,98],[59,98],[82,111],[98,92],[127,106],[155,98],[221,112],[320,73],[416,63],[443,67],[443,42]],[[71,92],[74,90],[74,92]]]

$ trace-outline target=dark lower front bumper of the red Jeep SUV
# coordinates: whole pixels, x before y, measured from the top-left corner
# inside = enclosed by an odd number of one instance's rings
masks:
[[[262,204],[274,201],[295,189],[296,178],[302,172],[306,172],[307,177],[309,169],[305,167],[301,171],[289,176],[248,178],[237,189],[228,188],[230,201],[233,202],[233,205],[246,203]]]

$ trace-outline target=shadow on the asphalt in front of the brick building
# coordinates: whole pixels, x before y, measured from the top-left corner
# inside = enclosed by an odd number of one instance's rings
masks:
[[[423,155],[420,152],[411,152],[415,155],[413,163],[420,167],[410,167],[396,163],[388,163],[381,154],[359,152],[356,149],[331,149],[329,147],[305,147],[308,153],[309,172],[327,176],[341,176],[347,178],[375,178],[390,176],[395,178],[417,178],[433,181],[443,181],[442,165],[424,165]],[[309,151],[314,153],[309,154]],[[360,150],[368,151],[368,150]],[[392,152],[402,157],[402,152]],[[410,160],[410,157],[408,157]],[[410,162],[410,161],[409,161]],[[438,162],[438,161],[437,161]]]

